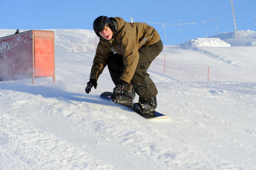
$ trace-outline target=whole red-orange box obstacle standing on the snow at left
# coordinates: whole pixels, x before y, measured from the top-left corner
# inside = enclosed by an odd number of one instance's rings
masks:
[[[30,30],[0,38],[0,80],[52,76],[55,82],[54,32]]]

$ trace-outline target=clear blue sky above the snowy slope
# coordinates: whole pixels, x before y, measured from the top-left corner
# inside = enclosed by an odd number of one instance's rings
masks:
[[[237,29],[256,31],[256,1],[233,3]],[[92,30],[94,19],[107,15],[152,25],[165,45],[234,31],[230,0],[1,0],[0,5],[0,29]],[[178,23],[189,24],[171,25]]]

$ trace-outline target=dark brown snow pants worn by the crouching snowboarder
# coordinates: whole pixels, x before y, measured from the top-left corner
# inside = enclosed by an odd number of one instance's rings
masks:
[[[157,95],[157,88],[153,80],[149,77],[147,70],[152,61],[162,52],[162,41],[150,46],[142,46],[139,49],[139,63],[136,67],[135,74],[131,82],[128,84],[128,90],[133,90],[139,95],[139,100],[150,99]],[[108,70],[112,81],[116,84],[119,83],[119,78],[123,74],[124,64],[123,56],[120,54],[113,54],[107,62]]]

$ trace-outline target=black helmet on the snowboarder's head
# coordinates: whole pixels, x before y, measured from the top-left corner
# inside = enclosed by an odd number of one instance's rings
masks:
[[[99,16],[93,22],[93,29],[97,36],[100,37],[99,32],[102,31],[107,25],[110,24],[110,29],[113,30],[112,20],[107,16]]]

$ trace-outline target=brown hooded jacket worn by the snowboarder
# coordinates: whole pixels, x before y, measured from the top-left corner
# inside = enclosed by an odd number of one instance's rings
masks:
[[[119,17],[111,19],[117,23],[116,31],[113,32],[114,37],[110,41],[99,41],[91,67],[90,79],[98,80],[107,65],[108,57],[116,52],[123,56],[124,62],[124,72],[120,79],[129,83],[139,61],[139,49],[160,41],[160,35],[156,29],[145,23],[127,23]]]

